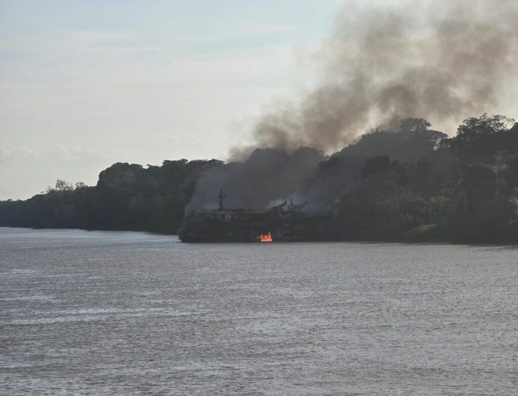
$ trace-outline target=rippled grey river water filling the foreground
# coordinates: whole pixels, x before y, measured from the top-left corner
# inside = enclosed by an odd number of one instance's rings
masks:
[[[518,249],[0,228],[5,395],[516,395]]]

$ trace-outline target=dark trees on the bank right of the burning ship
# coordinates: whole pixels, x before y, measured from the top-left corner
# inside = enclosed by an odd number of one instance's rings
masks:
[[[341,238],[518,243],[518,127],[513,123],[483,114],[466,120],[456,137],[430,142],[420,159],[367,158],[362,177],[339,199]],[[416,141],[426,141],[428,127],[424,120],[407,119],[398,133],[375,131],[341,153],[377,152],[381,144],[398,159],[397,135],[425,134]],[[333,169],[340,161],[335,157]]]

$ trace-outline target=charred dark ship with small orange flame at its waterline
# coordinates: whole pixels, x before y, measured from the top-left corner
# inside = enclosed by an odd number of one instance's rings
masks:
[[[306,202],[284,201],[264,210],[225,209],[220,190],[218,209],[195,209],[178,231],[182,242],[287,242],[329,239],[332,211],[305,211]]]

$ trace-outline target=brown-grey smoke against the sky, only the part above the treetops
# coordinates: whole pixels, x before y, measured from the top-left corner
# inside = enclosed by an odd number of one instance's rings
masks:
[[[351,1],[316,56],[320,86],[264,114],[254,145],[232,149],[234,159],[266,147],[329,152],[402,118],[458,124],[492,111],[502,82],[518,70],[518,2]]]

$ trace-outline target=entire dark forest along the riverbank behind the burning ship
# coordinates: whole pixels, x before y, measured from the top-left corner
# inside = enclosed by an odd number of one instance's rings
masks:
[[[483,114],[452,138],[430,126],[405,119],[330,156],[257,149],[243,163],[117,163],[95,186],[58,180],[45,194],[0,201],[0,226],[175,233],[186,205],[215,202],[221,187],[243,207],[293,194],[332,208],[336,240],[518,242],[518,123]]]

